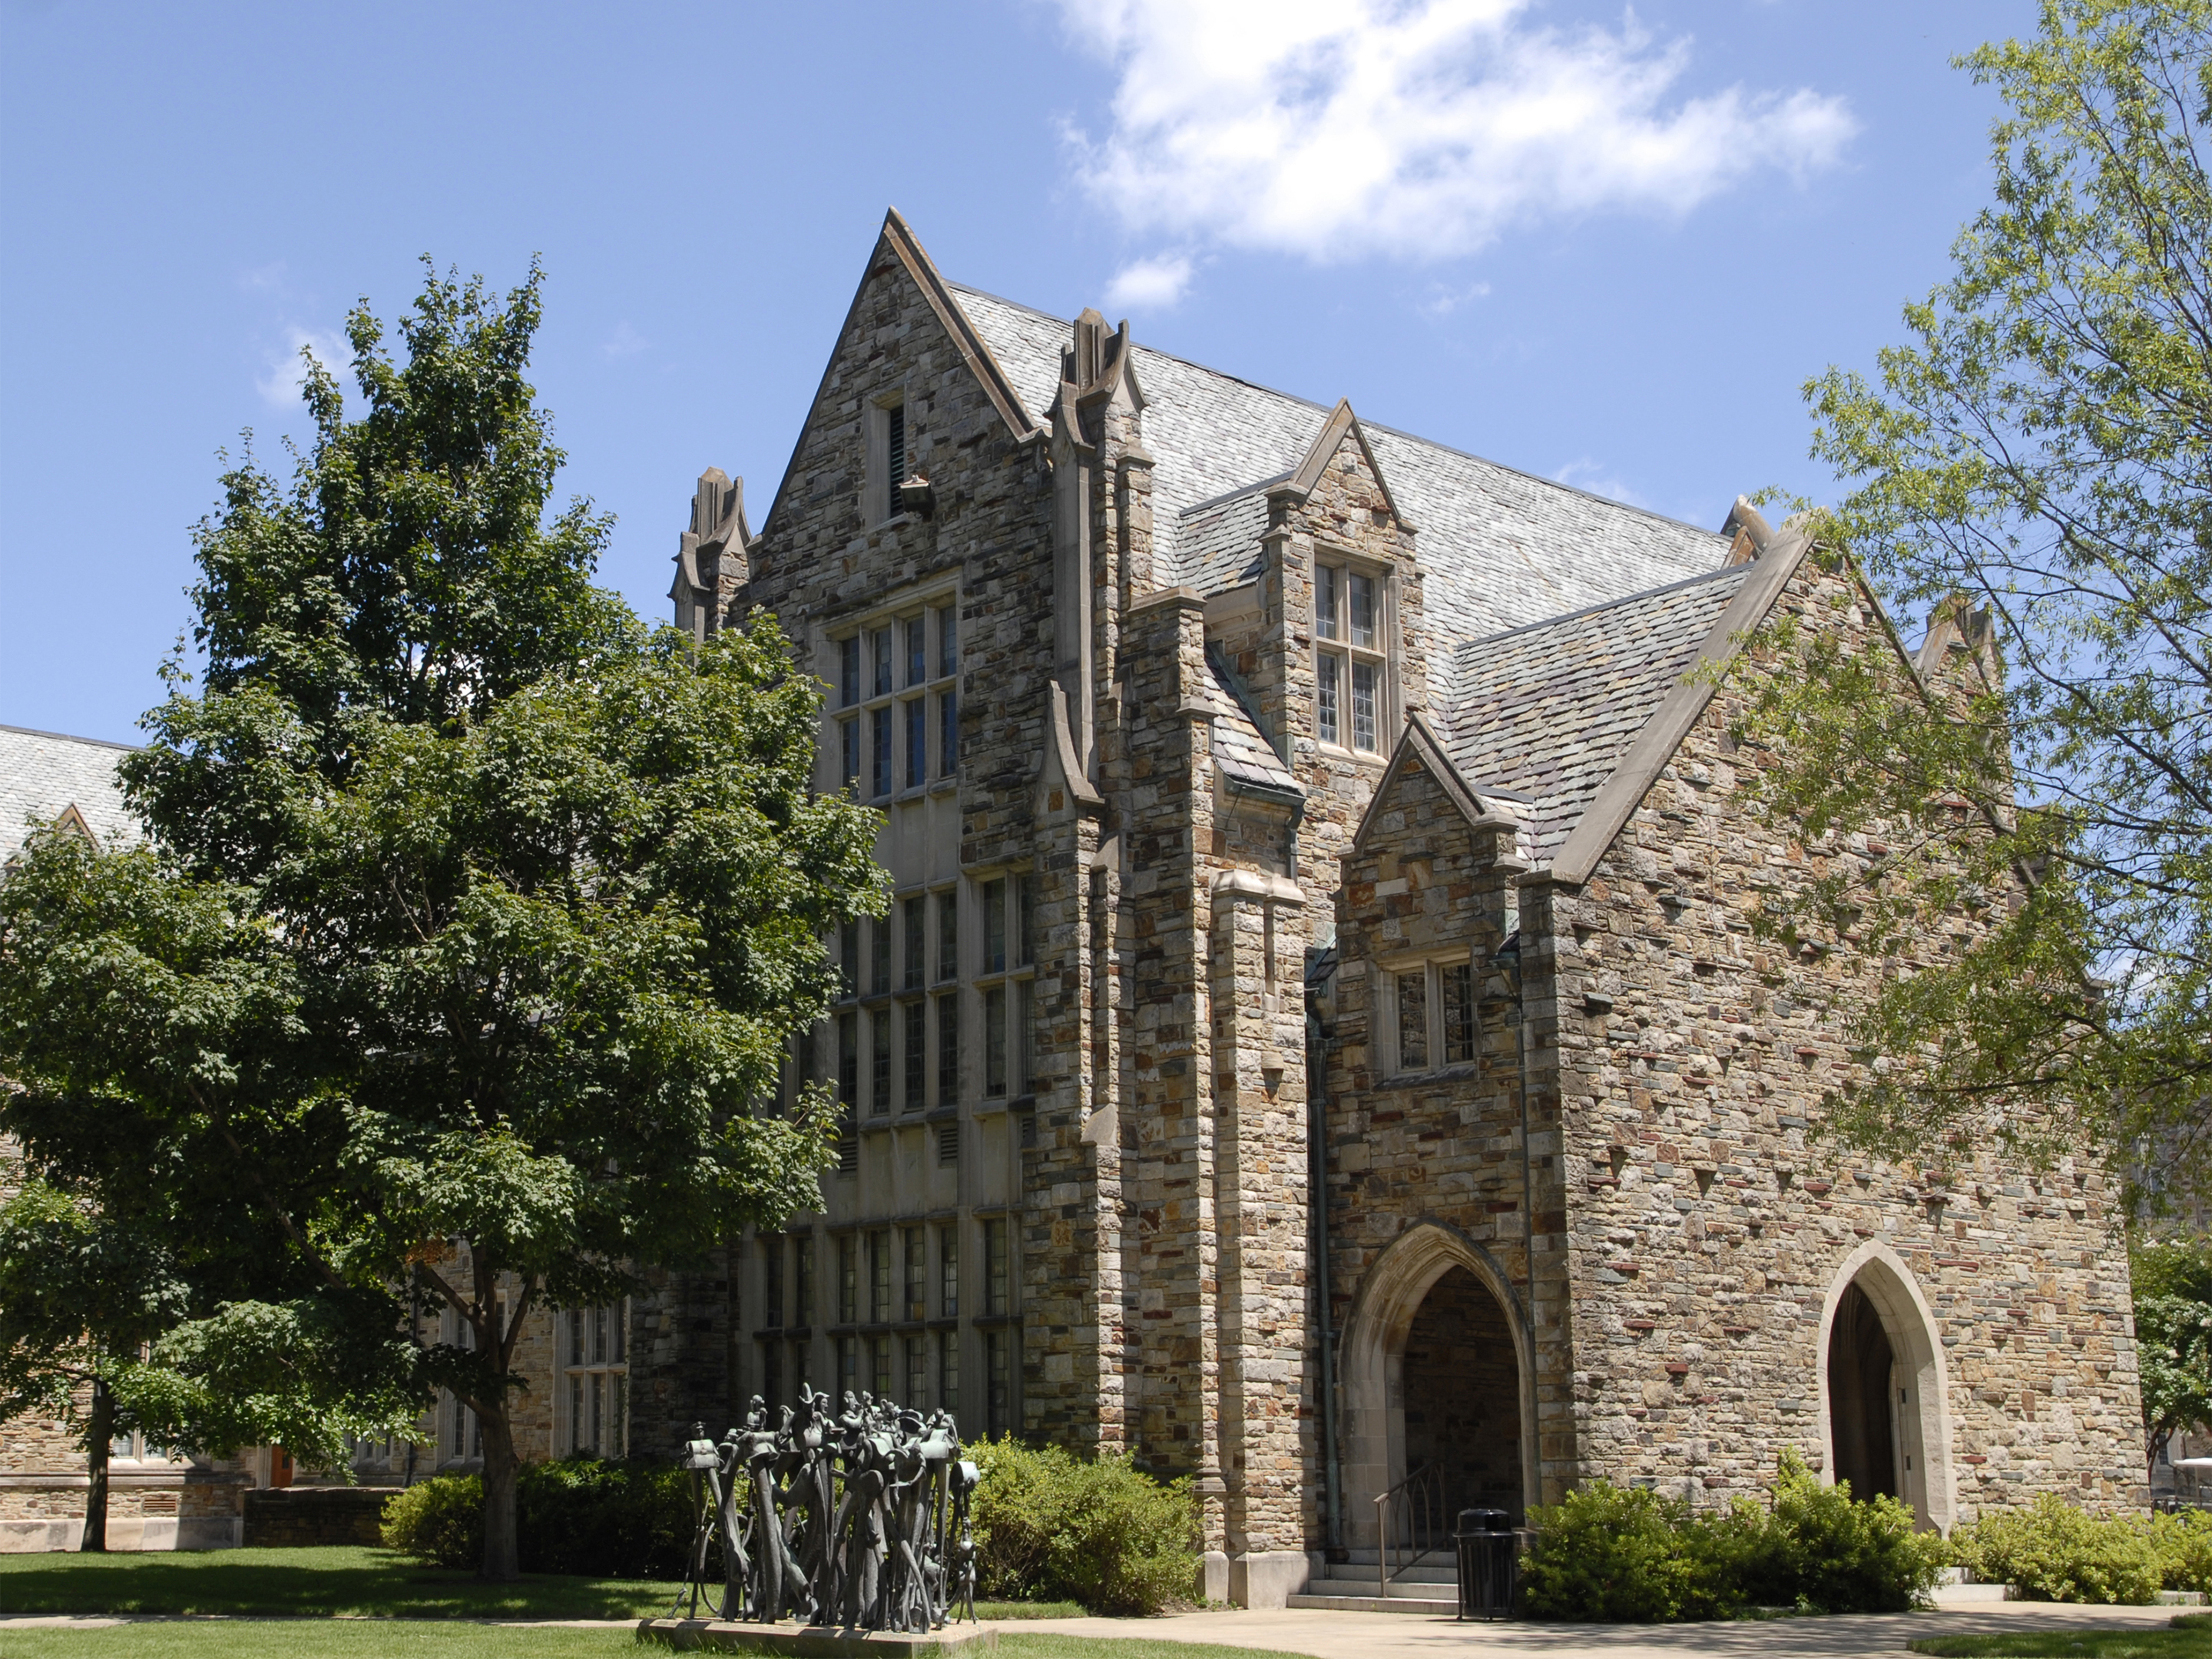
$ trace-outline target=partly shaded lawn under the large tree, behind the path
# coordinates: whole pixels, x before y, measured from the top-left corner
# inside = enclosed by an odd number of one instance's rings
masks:
[[[529,1575],[518,1584],[480,1584],[469,1573],[416,1566],[392,1551],[361,1546],[0,1555],[0,1613],[646,1619],[666,1617],[675,1597],[675,1584],[644,1579]],[[987,1619],[1066,1619],[1082,1615],[1082,1608],[1071,1601],[978,1604],[975,1613]],[[29,1632],[11,1632],[9,1641],[22,1635]],[[58,1635],[84,1639],[91,1632]],[[142,1650],[131,1648],[131,1652]],[[166,1648],[144,1648],[144,1652],[166,1652]]]

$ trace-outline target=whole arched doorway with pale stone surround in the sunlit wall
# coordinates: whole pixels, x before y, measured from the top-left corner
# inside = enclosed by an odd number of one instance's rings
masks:
[[[1836,1270],[1820,1316],[1820,1438],[1827,1478],[1885,1493],[1922,1526],[1951,1531],[1951,1405],[1942,1340],[1905,1261],[1869,1239]]]

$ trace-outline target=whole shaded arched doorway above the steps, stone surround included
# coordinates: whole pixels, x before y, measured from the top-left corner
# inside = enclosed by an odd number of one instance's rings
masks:
[[[1482,1245],[1407,1228],[1345,1321],[1345,1542],[1376,1546],[1374,1500],[1436,1458],[1453,1506],[1522,1515],[1535,1486],[1535,1378],[1520,1298]]]

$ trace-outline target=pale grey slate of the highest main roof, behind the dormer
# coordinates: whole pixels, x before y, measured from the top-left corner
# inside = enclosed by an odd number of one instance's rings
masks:
[[[1060,392],[1073,323],[949,283],[1031,418]],[[1237,538],[1256,487],[1290,476],[1329,407],[1137,345],[1152,471],[1155,575],[1201,593],[1250,568]],[[1478,639],[1712,571],[1728,538],[1360,420],[1413,520],[1422,597],[1440,641]],[[1237,498],[1237,511],[1214,511]],[[1250,553],[1259,553],[1256,533]]]

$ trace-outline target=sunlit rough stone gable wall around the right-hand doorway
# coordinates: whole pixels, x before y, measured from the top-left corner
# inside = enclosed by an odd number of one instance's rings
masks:
[[[1812,562],[1781,608],[1885,648]],[[1820,1467],[1820,1316],[1876,1241],[1936,1321],[1958,1520],[2035,1491],[2141,1502],[2117,1183],[2086,1159],[2035,1179],[1986,1148],[1900,1168],[1818,1139],[1823,1093],[1863,1075],[1834,1009],[1869,964],[1849,940],[1783,960],[1752,914],[1869,847],[1743,812],[1741,774],[1770,761],[1732,743],[1732,708],[1723,690],[1582,891],[1553,896],[1577,1473],[1725,1495],[1783,1444]]]

